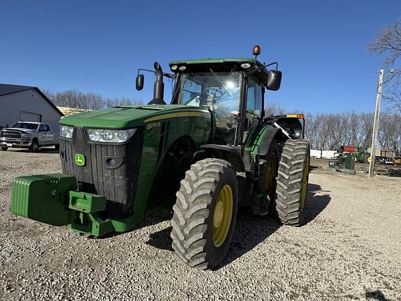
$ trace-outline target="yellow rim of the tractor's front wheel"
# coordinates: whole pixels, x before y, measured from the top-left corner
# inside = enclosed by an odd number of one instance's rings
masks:
[[[217,196],[212,221],[212,239],[216,247],[223,245],[230,230],[233,216],[233,190],[230,185],[224,185]]]

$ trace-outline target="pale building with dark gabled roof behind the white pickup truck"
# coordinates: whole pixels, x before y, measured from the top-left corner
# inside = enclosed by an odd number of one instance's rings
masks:
[[[58,130],[63,113],[37,87],[0,84],[0,128],[17,121],[49,123]]]

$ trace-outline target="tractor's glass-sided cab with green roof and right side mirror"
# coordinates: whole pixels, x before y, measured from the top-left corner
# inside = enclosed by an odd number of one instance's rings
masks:
[[[169,65],[176,78],[171,104],[207,107],[214,121],[214,144],[242,146],[264,116],[265,87],[277,90],[281,82],[280,71],[268,71],[256,58],[172,61]]]

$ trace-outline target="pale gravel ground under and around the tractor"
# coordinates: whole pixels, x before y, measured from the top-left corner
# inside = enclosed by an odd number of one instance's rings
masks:
[[[401,179],[310,173],[301,228],[239,212],[215,271],[175,258],[170,214],[79,236],[9,212],[15,176],[61,170],[58,154],[0,152],[0,300],[401,300]]]

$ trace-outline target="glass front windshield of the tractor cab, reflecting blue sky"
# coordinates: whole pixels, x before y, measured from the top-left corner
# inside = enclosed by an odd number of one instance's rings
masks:
[[[242,85],[240,72],[184,73],[178,86],[178,104],[214,111],[215,144],[234,144]]]

